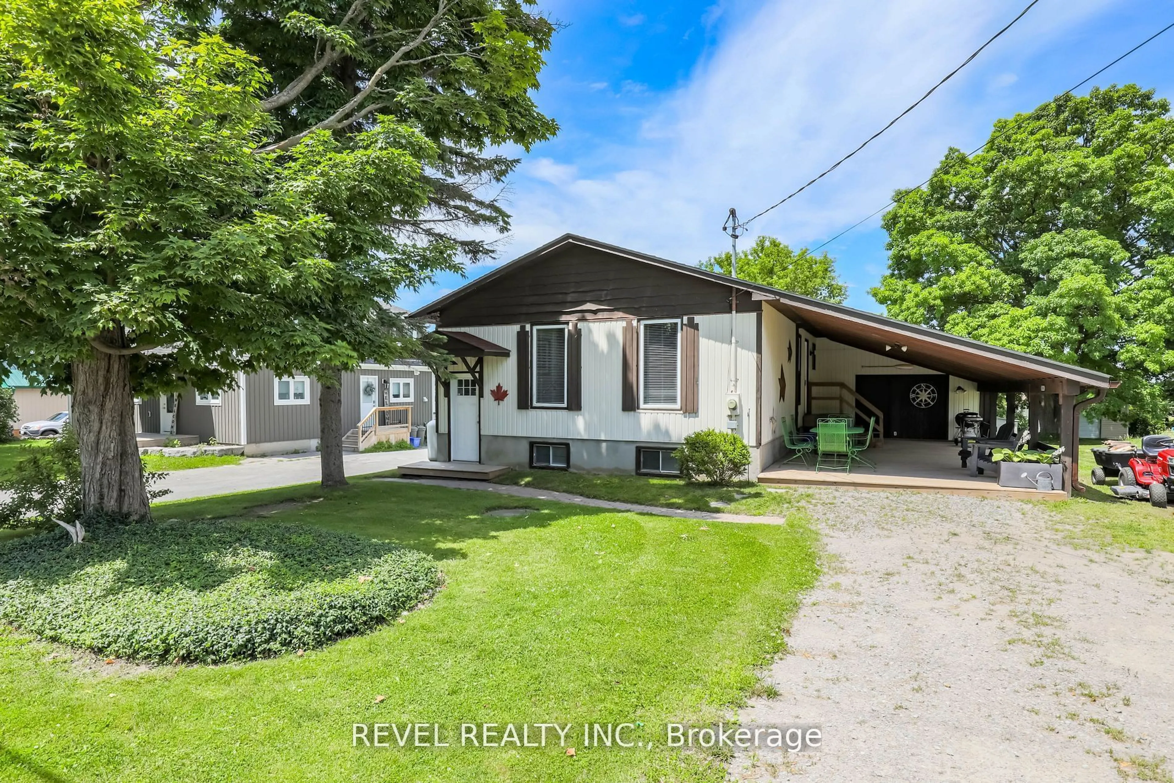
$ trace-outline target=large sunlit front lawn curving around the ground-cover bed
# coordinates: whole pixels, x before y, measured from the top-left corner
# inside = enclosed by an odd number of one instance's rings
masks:
[[[157,517],[271,514],[394,541],[437,558],[445,589],[403,623],[304,657],[215,668],[86,670],[0,630],[0,779],[717,783],[720,765],[663,747],[663,724],[741,702],[817,575],[797,512],[702,524],[372,479],[321,497],[292,487]],[[502,506],[534,511],[486,515]],[[573,758],[351,747],[356,722],[407,721],[639,721],[632,737],[655,744],[575,743]]]

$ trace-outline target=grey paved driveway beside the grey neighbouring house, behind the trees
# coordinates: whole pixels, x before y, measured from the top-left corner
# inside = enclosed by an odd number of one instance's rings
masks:
[[[363,475],[391,471],[400,465],[427,459],[427,450],[385,451],[366,454],[346,454],[343,458],[346,475]],[[198,467],[190,471],[168,473],[158,485],[171,492],[162,500],[187,500],[205,495],[244,492],[248,490],[271,490],[291,484],[308,484],[322,478],[322,466],[317,454],[291,457],[255,457],[239,465],[223,467]]]

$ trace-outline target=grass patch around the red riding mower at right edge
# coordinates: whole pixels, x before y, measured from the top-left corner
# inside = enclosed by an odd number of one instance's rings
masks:
[[[1140,443],[1136,438],[1132,440]],[[1092,482],[1089,473],[1097,465],[1092,450],[1099,445],[1099,440],[1080,441],[1080,480],[1088,487],[1085,497],[1052,506],[1060,513],[1066,533],[1075,541],[1097,546],[1174,552],[1174,511],[1121,500],[1109,488],[1116,484],[1115,479],[1102,486]]]

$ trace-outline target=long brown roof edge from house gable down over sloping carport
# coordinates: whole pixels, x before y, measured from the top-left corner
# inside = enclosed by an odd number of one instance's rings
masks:
[[[812,299],[789,291],[774,289],[769,285],[749,283],[730,277],[729,275],[709,272],[699,266],[690,266],[689,264],[628,250],[574,234],[566,234],[499,266],[487,275],[440,297],[436,302],[420,308],[412,316],[429,318],[432,313],[443,310],[487,283],[515,274],[528,264],[540,263],[544,257],[548,257],[549,254],[568,244],[601,250],[681,275],[689,275],[748,291],[755,299],[760,299],[767,306],[778,310],[814,336],[826,337],[844,345],[872,351],[880,356],[899,359],[903,363],[950,373],[959,378],[999,385],[1050,378],[1061,378],[1075,382],[1081,386],[1097,389],[1111,389],[1116,385],[1109,376],[1094,370],[1086,370],[1085,367],[1046,359],[1032,353],[998,347],[929,326],[908,324],[864,310]],[[885,351],[885,345],[891,346],[889,351]],[[902,350],[902,346],[904,350]]]

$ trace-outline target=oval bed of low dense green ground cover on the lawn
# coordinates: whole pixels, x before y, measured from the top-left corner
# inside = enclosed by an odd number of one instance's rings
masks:
[[[271,520],[104,524],[0,544],[0,621],[101,655],[224,661],[321,647],[416,606],[427,555]]]

